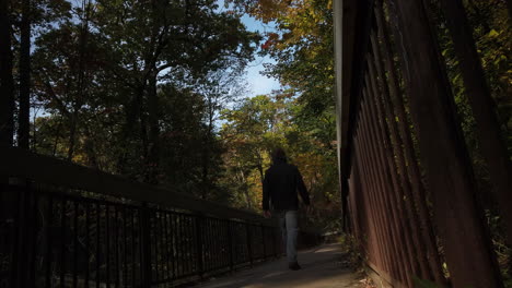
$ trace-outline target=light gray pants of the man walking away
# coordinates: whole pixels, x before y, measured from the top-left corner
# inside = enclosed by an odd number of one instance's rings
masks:
[[[296,237],[299,235],[298,212],[283,211],[277,214],[281,227],[282,242],[287,250],[288,263],[296,262]]]

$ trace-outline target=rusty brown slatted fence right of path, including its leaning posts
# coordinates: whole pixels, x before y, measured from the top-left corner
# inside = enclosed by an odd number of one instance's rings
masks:
[[[512,170],[461,0],[440,0],[509,242]],[[366,263],[394,287],[503,287],[430,1],[335,1],[340,181]]]

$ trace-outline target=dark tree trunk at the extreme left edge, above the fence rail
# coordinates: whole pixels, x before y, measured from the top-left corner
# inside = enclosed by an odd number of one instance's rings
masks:
[[[14,134],[14,79],[8,0],[0,0],[0,144],[12,146]]]

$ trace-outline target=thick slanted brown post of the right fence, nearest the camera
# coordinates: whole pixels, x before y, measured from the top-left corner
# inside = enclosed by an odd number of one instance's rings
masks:
[[[411,93],[410,111],[418,131],[421,165],[452,281],[454,287],[502,287],[427,11],[421,0],[394,0],[391,7],[396,9],[395,43],[403,48],[399,51]]]

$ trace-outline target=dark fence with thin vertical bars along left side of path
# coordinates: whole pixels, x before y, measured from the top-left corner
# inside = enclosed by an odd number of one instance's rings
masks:
[[[259,215],[16,148],[0,158],[0,287],[175,287],[282,253]]]

